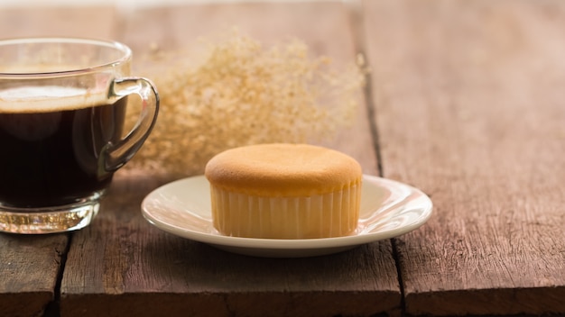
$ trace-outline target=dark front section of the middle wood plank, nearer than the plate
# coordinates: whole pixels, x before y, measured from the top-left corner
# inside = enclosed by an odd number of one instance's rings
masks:
[[[145,222],[139,205],[155,185],[119,177],[96,220],[75,234],[61,316],[368,315],[399,308],[389,241],[319,258],[239,256]]]

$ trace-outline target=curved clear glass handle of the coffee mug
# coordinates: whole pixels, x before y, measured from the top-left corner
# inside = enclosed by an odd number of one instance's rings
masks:
[[[114,80],[110,86],[109,97],[117,100],[127,95],[139,95],[141,113],[134,128],[116,143],[108,142],[102,150],[104,168],[107,172],[116,171],[142,147],[157,120],[159,113],[159,94],[151,81],[142,77],[125,77]]]

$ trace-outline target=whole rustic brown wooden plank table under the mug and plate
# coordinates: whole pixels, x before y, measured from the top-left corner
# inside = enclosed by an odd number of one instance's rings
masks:
[[[117,173],[87,229],[0,235],[0,315],[565,314],[565,3],[417,1],[0,9],[0,36],[162,48],[237,24],[371,73],[329,146],[431,196],[416,231],[318,258],[252,258],[154,228]]]

